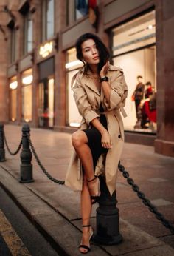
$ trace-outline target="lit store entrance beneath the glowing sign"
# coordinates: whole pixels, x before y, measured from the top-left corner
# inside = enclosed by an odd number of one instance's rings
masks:
[[[52,128],[54,126],[54,79],[44,78],[38,89],[39,127]]]

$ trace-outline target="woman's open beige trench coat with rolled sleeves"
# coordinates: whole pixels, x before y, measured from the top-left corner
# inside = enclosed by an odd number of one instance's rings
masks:
[[[108,149],[106,155],[103,154],[100,156],[95,174],[100,175],[102,172],[105,172],[106,184],[112,195],[116,189],[116,172],[124,141],[124,128],[120,111],[123,115],[126,115],[123,107],[125,106],[125,98],[128,95],[128,87],[125,83],[122,69],[109,65],[107,76],[109,78],[109,84],[111,85],[111,98],[110,105],[108,105],[102,90],[100,95],[94,81],[84,75],[83,72],[84,68],[79,70],[73,79],[75,82],[72,82],[74,99],[80,115],[83,116],[80,129],[90,129],[90,122],[94,118],[100,117],[98,110],[100,102],[102,102],[102,107],[105,110],[105,116],[108,122],[108,132],[111,135],[113,145],[111,149]],[[66,173],[65,184],[72,189],[82,190],[82,168],[75,151],[72,153],[72,158]]]

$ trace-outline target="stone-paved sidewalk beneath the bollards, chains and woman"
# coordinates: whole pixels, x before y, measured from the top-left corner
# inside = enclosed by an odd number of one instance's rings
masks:
[[[15,151],[21,139],[21,127],[5,125],[7,142]],[[65,178],[72,152],[71,135],[45,129],[31,129],[31,139],[47,171]],[[35,159],[33,183],[19,183],[20,156],[6,150],[6,162],[0,163],[0,183],[24,210],[35,226],[55,246],[60,255],[80,255],[80,193],[49,181]],[[155,154],[153,147],[125,144],[121,159],[147,198],[159,212],[174,223],[174,158]],[[174,236],[137,198],[121,173],[116,183],[123,242],[116,246],[91,245],[88,255],[174,255]],[[91,224],[95,227],[94,206]]]

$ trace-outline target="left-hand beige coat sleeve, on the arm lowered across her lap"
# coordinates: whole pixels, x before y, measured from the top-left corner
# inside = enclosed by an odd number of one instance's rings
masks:
[[[72,90],[74,92],[74,100],[76,102],[77,109],[80,112],[80,115],[85,119],[86,123],[90,124],[94,118],[99,118],[100,116],[92,109],[91,104],[88,101],[88,96],[81,85],[78,75],[74,86],[72,86]]]

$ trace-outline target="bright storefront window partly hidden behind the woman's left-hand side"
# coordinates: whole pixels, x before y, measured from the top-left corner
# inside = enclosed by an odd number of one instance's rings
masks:
[[[76,58],[76,50],[72,48],[66,53],[66,87],[67,87],[67,123],[70,127],[79,127],[82,119],[77,110],[71,88],[71,81],[74,74],[80,67],[83,67],[81,61]]]

